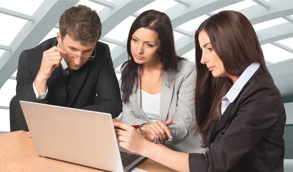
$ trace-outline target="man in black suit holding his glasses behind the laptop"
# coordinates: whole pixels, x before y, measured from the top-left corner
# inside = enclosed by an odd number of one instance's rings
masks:
[[[98,42],[102,23],[96,11],[71,7],[61,16],[59,28],[57,37],[20,55],[16,120],[24,131],[28,127],[20,100],[105,112],[113,118],[122,111],[109,47]]]

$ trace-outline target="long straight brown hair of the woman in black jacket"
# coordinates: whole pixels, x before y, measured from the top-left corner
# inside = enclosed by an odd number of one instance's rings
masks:
[[[272,79],[265,64],[264,55],[256,33],[243,14],[236,11],[222,11],[205,20],[195,32],[195,134],[202,134],[203,145],[207,147],[207,132],[221,116],[221,99],[232,86],[228,77],[212,77],[206,65],[201,64],[202,50],[198,36],[205,31],[210,43],[223,61],[224,68],[232,76],[240,76],[253,62]]]

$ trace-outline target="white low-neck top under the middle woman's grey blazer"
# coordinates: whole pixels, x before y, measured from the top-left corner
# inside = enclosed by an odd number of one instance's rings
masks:
[[[161,93],[150,95],[144,90],[141,90],[141,108],[146,116],[152,121],[160,120],[160,101]]]

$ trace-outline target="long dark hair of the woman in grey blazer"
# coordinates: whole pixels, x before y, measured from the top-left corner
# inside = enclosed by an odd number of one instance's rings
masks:
[[[121,91],[123,92],[122,100],[124,103],[129,101],[129,96],[138,89],[138,69],[140,67],[140,64],[137,64],[131,55],[130,42],[133,33],[141,27],[153,30],[157,32],[159,36],[162,50],[160,53],[160,60],[163,64],[161,76],[163,72],[173,74],[168,76],[169,85],[171,84],[175,72],[178,69],[178,62],[183,59],[176,55],[172,24],[169,17],[165,13],[156,10],[148,10],[140,14],[134,20],[130,27],[129,35],[127,38],[128,60],[121,67]]]

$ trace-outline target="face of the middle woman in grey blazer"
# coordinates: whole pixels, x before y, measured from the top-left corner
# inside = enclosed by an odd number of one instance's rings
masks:
[[[158,33],[144,27],[137,29],[132,35],[130,50],[134,61],[138,64],[159,60],[161,41]]]

